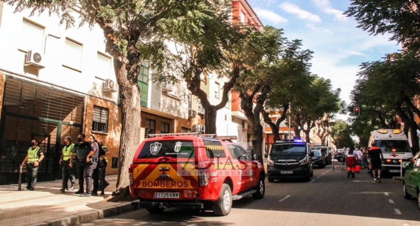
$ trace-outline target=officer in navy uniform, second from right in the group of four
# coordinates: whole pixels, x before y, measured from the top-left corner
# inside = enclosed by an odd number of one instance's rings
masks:
[[[96,169],[98,165],[99,146],[98,146],[98,143],[96,143],[95,137],[93,135],[89,135],[89,143],[90,143],[90,152],[86,156],[86,167],[85,167],[86,192],[80,197],[90,197],[92,195],[92,175],[93,175],[93,171]],[[96,196],[97,195],[98,193],[96,193]]]

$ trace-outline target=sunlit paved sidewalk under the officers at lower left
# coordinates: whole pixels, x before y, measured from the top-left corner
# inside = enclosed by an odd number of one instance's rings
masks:
[[[18,191],[18,185],[0,186],[0,225],[76,225],[131,210],[131,202],[105,202],[115,190],[116,175],[107,176],[105,195],[79,197],[76,190],[61,193],[61,181],[40,182],[36,190]],[[70,182],[69,182],[70,183]],[[85,184],[86,187],[86,184]]]

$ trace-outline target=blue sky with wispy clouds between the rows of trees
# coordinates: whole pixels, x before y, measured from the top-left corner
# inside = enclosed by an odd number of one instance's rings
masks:
[[[311,71],[331,79],[341,88],[341,99],[350,102],[359,65],[396,52],[400,44],[390,35],[369,35],[356,28],[354,18],[342,15],[348,0],[248,0],[264,26],[284,29],[289,40],[301,39],[314,52]],[[345,116],[338,117],[346,119]]]

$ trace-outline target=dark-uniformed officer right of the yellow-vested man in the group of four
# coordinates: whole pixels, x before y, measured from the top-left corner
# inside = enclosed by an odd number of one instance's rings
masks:
[[[76,172],[77,172],[77,176],[79,177],[79,190],[75,192],[75,194],[83,194],[85,192],[84,188],[83,188],[83,180],[84,180],[84,173],[85,173],[85,169],[87,167],[87,162],[86,162],[86,157],[89,154],[90,151],[90,144],[88,142],[85,141],[85,135],[84,134],[79,134],[79,136],[77,137],[77,141],[78,143],[75,144],[75,148],[72,151],[72,155],[70,156],[70,167],[73,167],[73,159],[75,157],[76,154],[76,162],[77,162],[77,167],[76,167]]]

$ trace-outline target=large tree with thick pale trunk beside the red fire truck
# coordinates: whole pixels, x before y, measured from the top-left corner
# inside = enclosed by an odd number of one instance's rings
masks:
[[[165,41],[183,33],[200,33],[203,20],[211,18],[225,6],[225,1],[206,0],[121,0],[121,1],[26,1],[6,0],[16,11],[31,9],[56,14],[67,28],[98,25],[105,38],[105,50],[113,57],[116,81],[121,92],[123,123],[118,153],[117,192],[129,195],[128,167],[140,140],[140,89],[137,76],[144,59],[143,51],[153,55],[152,68],[167,66],[159,55],[168,54]],[[76,13],[76,9],[79,13]],[[76,19],[78,18],[78,19]]]

